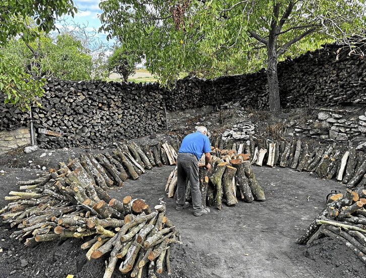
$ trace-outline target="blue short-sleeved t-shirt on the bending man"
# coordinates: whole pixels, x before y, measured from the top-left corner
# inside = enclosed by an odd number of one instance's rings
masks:
[[[195,154],[198,160],[200,160],[204,152],[210,151],[210,140],[205,134],[199,131],[188,134],[185,138],[183,138],[179,148],[179,152],[189,152]]]

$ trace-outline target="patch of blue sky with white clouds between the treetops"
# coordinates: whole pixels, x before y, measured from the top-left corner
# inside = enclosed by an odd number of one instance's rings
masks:
[[[100,0],[74,0],[74,5],[78,8],[78,13],[75,14],[74,18],[71,16],[65,16],[61,25],[67,27],[68,24],[72,24],[75,22],[82,26],[87,26],[86,30],[93,32],[98,31],[98,28],[101,26],[99,15],[102,13],[102,10],[99,9]],[[66,26],[65,26],[66,25]],[[97,37],[104,43],[108,43],[109,46],[112,46],[114,40],[106,39],[106,34],[98,33]]]

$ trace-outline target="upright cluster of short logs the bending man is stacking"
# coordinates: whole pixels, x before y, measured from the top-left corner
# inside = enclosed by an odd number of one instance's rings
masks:
[[[249,154],[238,153],[236,149],[220,150],[214,147],[212,147],[212,154],[210,171],[203,164],[204,156],[199,161],[202,206],[216,207],[221,210],[223,202],[227,206],[232,206],[238,203],[238,199],[247,203],[253,200],[266,200],[264,191],[254,175]],[[171,171],[165,185],[168,198],[176,194],[176,185],[177,167]],[[190,189],[188,184],[186,187],[188,201],[191,200]]]

